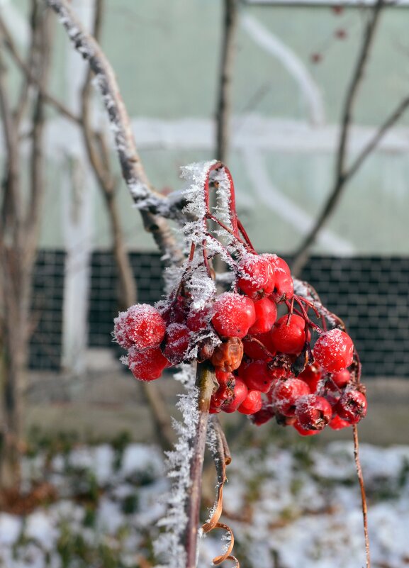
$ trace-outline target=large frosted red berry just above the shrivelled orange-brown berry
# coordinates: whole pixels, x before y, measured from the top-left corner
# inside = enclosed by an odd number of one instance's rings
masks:
[[[255,319],[254,303],[246,296],[225,292],[215,301],[212,323],[222,337],[244,338]]]

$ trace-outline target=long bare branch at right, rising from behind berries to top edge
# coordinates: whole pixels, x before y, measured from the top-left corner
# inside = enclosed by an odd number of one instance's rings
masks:
[[[371,48],[372,45],[374,45],[374,37],[376,34],[376,29],[378,28],[379,17],[381,15],[381,9],[383,8],[383,6],[384,1],[377,0],[374,8],[371,9],[371,16],[369,18],[369,21],[366,23],[361,49],[359,50],[357,63],[355,65],[352,79],[347,90],[347,96],[344,101],[344,110],[342,112],[341,119],[340,143],[338,145],[337,160],[335,166],[335,184],[332,187],[330,196],[328,197],[323,210],[315,221],[313,228],[310,230],[310,233],[308,233],[306,238],[303,240],[303,243],[296,251],[296,255],[291,265],[291,271],[296,276],[300,274],[303,266],[306,264],[310,247],[315,242],[315,239],[317,238],[317,235],[323,225],[327,222],[328,218],[330,218],[330,215],[335,210],[335,206],[337,206],[338,202],[340,201],[342,191],[346,186],[347,146],[349,142],[349,130],[352,123],[352,113],[354,110],[355,101],[357,100],[359,87],[361,87],[362,79],[364,78],[364,72],[366,69],[366,64],[369,60]]]

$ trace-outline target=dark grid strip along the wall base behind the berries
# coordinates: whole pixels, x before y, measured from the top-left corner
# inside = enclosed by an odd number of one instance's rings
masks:
[[[35,270],[30,366],[57,369],[62,339],[65,254],[40,252]],[[138,301],[153,304],[162,294],[158,254],[132,253]],[[409,377],[409,258],[315,256],[301,275],[347,325],[366,377]],[[91,257],[89,346],[109,347],[118,313],[116,266],[111,253]]]

